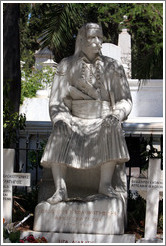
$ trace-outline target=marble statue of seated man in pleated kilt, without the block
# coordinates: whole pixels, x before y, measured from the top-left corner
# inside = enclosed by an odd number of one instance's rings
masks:
[[[129,160],[121,122],[132,108],[130,89],[123,66],[101,54],[102,41],[101,26],[85,24],[74,55],[62,59],[56,71],[49,102],[53,130],[41,159],[54,178],[50,204],[68,198],[67,167],[100,167],[98,193],[117,195],[115,165]]]

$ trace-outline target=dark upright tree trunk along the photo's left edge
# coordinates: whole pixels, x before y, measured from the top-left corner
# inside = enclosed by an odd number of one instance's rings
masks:
[[[4,4],[3,80],[4,100],[9,100],[11,113],[19,112],[21,71],[18,3]]]

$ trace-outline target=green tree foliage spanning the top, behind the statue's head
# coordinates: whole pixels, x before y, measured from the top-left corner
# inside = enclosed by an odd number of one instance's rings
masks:
[[[21,59],[27,59],[26,66],[32,66],[34,51],[39,48],[37,40],[42,47],[50,47],[59,62],[74,53],[78,29],[84,23],[98,22],[103,28],[104,42],[117,45],[122,27],[129,30],[132,78],[162,79],[162,3],[27,3],[20,6]],[[123,21],[124,15],[128,19]]]

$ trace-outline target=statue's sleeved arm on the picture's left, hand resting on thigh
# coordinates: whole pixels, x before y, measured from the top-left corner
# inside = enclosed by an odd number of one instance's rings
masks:
[[[68,94],[68,58],[63,59],[58,65],[54,81],[51,88],[49,100],[49,114],[53,125],[58,121],[63,121],[67,125],[71,124],[71,113],[69,107],[64,103],[64,98]]]

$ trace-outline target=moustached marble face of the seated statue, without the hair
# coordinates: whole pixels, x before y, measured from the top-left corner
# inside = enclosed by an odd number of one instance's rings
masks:
[[[103,33],[101,28],[87,29],[82,51],[86,54],[99,53],[102,47]]]

